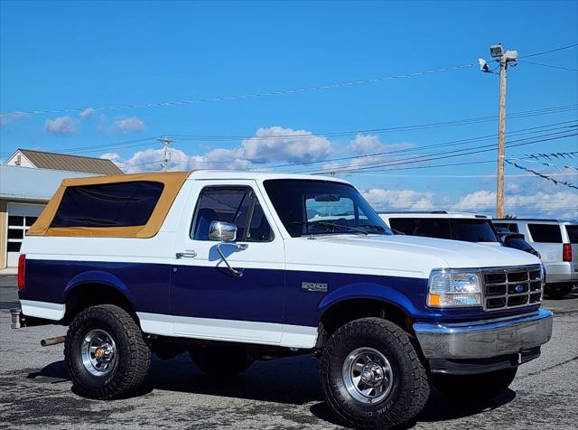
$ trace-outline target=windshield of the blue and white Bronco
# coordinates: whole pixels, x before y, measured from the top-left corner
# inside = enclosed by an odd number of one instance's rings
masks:
[[[346,183],[274,179],[265,189],[293,238],[307,234],[393,234],[361,194]]]

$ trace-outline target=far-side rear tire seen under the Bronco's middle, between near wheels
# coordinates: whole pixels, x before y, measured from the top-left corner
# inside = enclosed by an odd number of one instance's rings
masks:
[[[189,350],[189,354],[203,373],[219,379],[237,376],[253,364],[245,348],[237,346],[199,346]]]

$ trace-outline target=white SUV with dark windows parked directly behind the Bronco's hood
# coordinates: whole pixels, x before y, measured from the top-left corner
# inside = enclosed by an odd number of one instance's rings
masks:
[[[396,234],[449,238],[500,246],[498,233],[486,215],[434,210],[432,212],[380,212]]]

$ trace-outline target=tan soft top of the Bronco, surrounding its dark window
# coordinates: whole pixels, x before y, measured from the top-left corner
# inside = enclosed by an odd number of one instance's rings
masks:
[[[90,178],[65,179],[52,196],[46,208],[33,226],[26,232],[27,236],[60,236],[85,238],[152,238],[163,225],[172,202],[181,190],[182,184],[191,172],[169,173],[133,173]],[[162,182],[163,192],[154,207],[149,220],[143,226],[131,227],[51,227],[52,219],[61,205],[62,196],[67,187],[80,185],[99,185],[103,183],[152,181]]]

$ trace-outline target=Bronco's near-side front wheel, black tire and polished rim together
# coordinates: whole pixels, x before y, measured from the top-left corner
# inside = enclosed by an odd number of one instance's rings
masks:
[[[355,428],[390,428],[415,419],[429,382],[409,335],[393,322],[349,322],[322,351],[322,389],[333,413]]]

